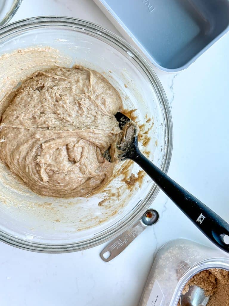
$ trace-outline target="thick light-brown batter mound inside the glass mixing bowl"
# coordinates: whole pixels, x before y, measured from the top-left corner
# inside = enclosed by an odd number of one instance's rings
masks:
[[[120,134],[116,89],[100,73],[75,66],[39,71],[2,114],[0,158],[34,192],[87,196],[115,164],[103,153]]]

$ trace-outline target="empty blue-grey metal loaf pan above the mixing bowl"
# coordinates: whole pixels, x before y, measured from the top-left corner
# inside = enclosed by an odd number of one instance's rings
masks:
[[[229,30],[229,0],[94,0],[158,68],[187,68]]]

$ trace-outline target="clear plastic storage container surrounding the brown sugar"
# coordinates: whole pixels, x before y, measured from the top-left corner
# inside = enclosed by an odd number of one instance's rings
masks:
[[[176,306],[187,281],[210,268],[229,271],[229,257],[193,241],[169,241],[157,253],[139,306]]]

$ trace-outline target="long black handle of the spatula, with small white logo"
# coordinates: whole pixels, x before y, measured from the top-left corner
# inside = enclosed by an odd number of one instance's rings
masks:
[[[132,154],[138,165],[152,178],[184,214],[222,250],[229,252],[229,224],[191,193],[173,181],[140,151]]]

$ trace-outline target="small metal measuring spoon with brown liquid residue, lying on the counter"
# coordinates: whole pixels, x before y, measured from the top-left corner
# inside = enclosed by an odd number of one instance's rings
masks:
[[[110,261],[120,254],[126,247],[140,234],[147,226],[157,223],[159,220],[159,214],[154,209],[148,209],[141,220],[136,222],[131,229],[126,230],[119,235],[116,239],[112,240],[106,248],[100,253],[100,257],[104,261]]]

